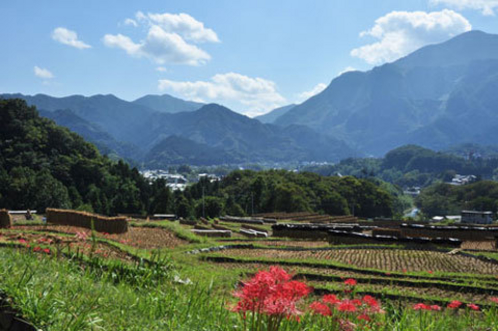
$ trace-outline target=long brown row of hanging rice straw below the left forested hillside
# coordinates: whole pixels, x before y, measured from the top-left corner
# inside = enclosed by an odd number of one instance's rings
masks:
[[[128,230],[128,221],[125,217],[105,217],[87,212],[60,210],[47,208],[47,222],[59,225],[70,225],[94,228],[98,232],[124,233]]]

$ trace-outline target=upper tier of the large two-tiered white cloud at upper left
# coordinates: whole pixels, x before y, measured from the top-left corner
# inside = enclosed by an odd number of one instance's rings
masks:
[[[138,11],[136,21],[145,22],[153,26],[158,25],[164,31],[177,33],[183,38],[194,42],[220,42],[218,35],[212,29],[206,28],[203,22],[196,20],[189,14],[179,13],[147,13]]]

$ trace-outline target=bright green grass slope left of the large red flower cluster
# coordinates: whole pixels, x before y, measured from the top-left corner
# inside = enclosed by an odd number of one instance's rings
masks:
[[[172,281],[115,284],[106,272],[0,249],[3,293],[24,318],[43,330],[217,330],[222,321],[230,320],[208,287]]]

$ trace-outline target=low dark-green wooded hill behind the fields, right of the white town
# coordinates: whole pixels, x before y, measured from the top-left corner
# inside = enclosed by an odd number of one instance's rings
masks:
[[[203,190],[209,216],[249,215],[253,210],[389,217],[395,204],[395,197],[369,180],[285,170],[234,171],[221,182],[203,180],[186,192],[197,201],[197,214],[202,211]]]

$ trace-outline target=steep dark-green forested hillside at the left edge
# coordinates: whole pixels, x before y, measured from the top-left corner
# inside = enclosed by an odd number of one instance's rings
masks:
[[[136,169],[113,162],[19,99],[0,100],[0,206],[139,213],[155,192]]]

